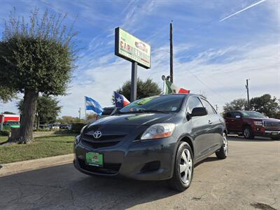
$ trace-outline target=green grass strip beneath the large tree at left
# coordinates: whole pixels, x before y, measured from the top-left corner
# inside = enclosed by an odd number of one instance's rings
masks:
[[[76,134],[53,134],[37,137],[31,144],[0,146],[0,164],[73,153],[75,136]],[[0,137],[0,143],[6,140],[7,137]]]

